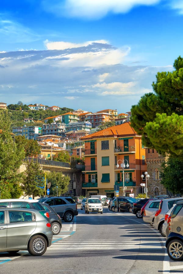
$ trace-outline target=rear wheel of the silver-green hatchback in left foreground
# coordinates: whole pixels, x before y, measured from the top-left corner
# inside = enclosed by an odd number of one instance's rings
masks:
[[[47,246],[47,241],[43,236],[35,235],[30,238],[27,250],[29,251],[30,255],[41,256],[46,252]]]

